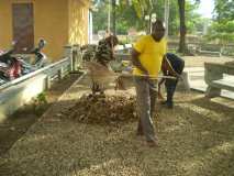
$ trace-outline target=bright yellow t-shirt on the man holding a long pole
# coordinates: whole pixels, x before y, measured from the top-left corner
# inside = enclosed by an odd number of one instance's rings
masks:
[[[160,65],[164,55],[167,51],[167,42],[161,38],[160,42],[156,42],[152,35],[145,35],[141,37],[135,44],[134,50],[141,53],[140,62],[148,70],[151,76],[157,77],[160,72]],[[142,72],[134,67],[133,75],[142,75]]]

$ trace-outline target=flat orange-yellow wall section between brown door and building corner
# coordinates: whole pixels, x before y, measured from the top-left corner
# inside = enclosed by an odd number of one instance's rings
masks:
[[[67,0],[34,0],[35,43],[43,37],[47,41],[45,53],[53,61],[64,54],[68,42],[68,6]]]

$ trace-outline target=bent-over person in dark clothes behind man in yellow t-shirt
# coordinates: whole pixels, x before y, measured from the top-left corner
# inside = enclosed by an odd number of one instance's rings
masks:
[[[165,105],[167,108],[172,109],[174,108],[174,94],[176,91],[178,79],[180,78],[180,75],[182,74],[185,67],[185,61],[172,53],[167,53],[164,56],[163,63],[161,63],[161,72],[164,76],[174,76],[172,78],[163,78],[158,82],[158,95],[160,95],[160,86],[163,82],[165,82],[166,92],[167,92],[167,99],[166,101],[163,101],[163,105]]]

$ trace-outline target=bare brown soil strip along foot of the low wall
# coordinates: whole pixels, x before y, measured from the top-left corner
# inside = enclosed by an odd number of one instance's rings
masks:
[[[18,141],[37,119],[55,103],[63,92],[73,85],[78,75],[69,75],[63,80],[56,81],[45,92],[47,100],[43,106],[25,106],[14,114],[0,123],[0,156],[4,154]],[[35,109],[36,108],[36,109]]]

